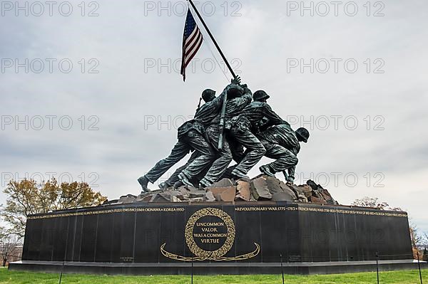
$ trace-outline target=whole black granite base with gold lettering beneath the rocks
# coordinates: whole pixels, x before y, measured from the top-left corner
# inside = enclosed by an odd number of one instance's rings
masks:
[[[405,212],[288,202],[128,204],[29,216],[11,269],[121,274],[345,273],[412,265]],[[408,261],[406,261],[408,260]],[[314,264],[314,263],[320,263]],[[60,265],[61,266],[61,265]],[[323,272],[324,271],[324,272]]]

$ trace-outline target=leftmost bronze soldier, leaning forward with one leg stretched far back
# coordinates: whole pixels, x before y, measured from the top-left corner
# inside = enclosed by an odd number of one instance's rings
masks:
[[[215,150],[205,140],[204,132],[205,125],[209,125],[209,122],[220,111],[223,102],[222,95],[215,98],[215,91],[210,89],[203,91],[202,98],[206,103],[198,108],[193,120],[185,122],[178,128],[178,142],[173,147],[170,155],[159,161],[146,175],[138,179],[143,191],[148,191],[148,182],[156,182],[170,167],[173,167],[180,159],[183,159],[191,150],[195,150],[197,154],[193,156],[194,159],[185,169],[190,173],[201,172],[206,164],[215,159]]]

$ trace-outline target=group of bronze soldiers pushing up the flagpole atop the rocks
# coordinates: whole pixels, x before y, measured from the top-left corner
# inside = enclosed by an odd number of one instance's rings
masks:
[[[224,96],[227,100],[222,112]],[[299,142],[307,142],[309,132],[304,127],[292,130],[267,104],[268,98],[263,90],[253,95],[239,77],[218,97],[214,90],[204,90],[205,103],[198,107],[193,120],[178,128],[178,142],[170,155],[138,179],[142,193],[149,191],[148,182],[156,182],[189,152],[193,154],[188,162],[161,183],[161,189],[182,185],[205,188],[223,177],[241,179],[263,156],[275,161],[261,166],[260,172],[270,177],[283,172],[287,182],[292,183]],[[219,140],[222,147],[218,147]],[[229,167],[232,160],[236,164]]]

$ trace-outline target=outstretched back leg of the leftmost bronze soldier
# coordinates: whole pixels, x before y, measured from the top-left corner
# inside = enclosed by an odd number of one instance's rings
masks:
[[[146,175],[138,179],[141,187],[143,187],[143,191],[147,191],[147,182],[156,182],[170,167],[173,167],[174,164],[183,159],[189,152],[190,147],[188,144],[182,140],[178,140],[168,157],[161,159]],[[146,185],[146,188],[144,185]]]

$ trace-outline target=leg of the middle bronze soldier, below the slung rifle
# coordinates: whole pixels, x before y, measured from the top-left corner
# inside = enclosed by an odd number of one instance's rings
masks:
[[[218,144],[220,132],[217,128],[208,128],[207,135],[211,144]],[[217,182],[218,179],[220,179],[225,173],[225,170],[228,168],[230,162],[232,162],[232,153],[230,152],[230,147],[227,139],[223,140],[223,149],[221,149],[218,154],[218,158],[215,159],[210,169],[208,169],[208,172],[207,174],[205,174],[205,177],[200,180],[201,186],[206,187]]]

